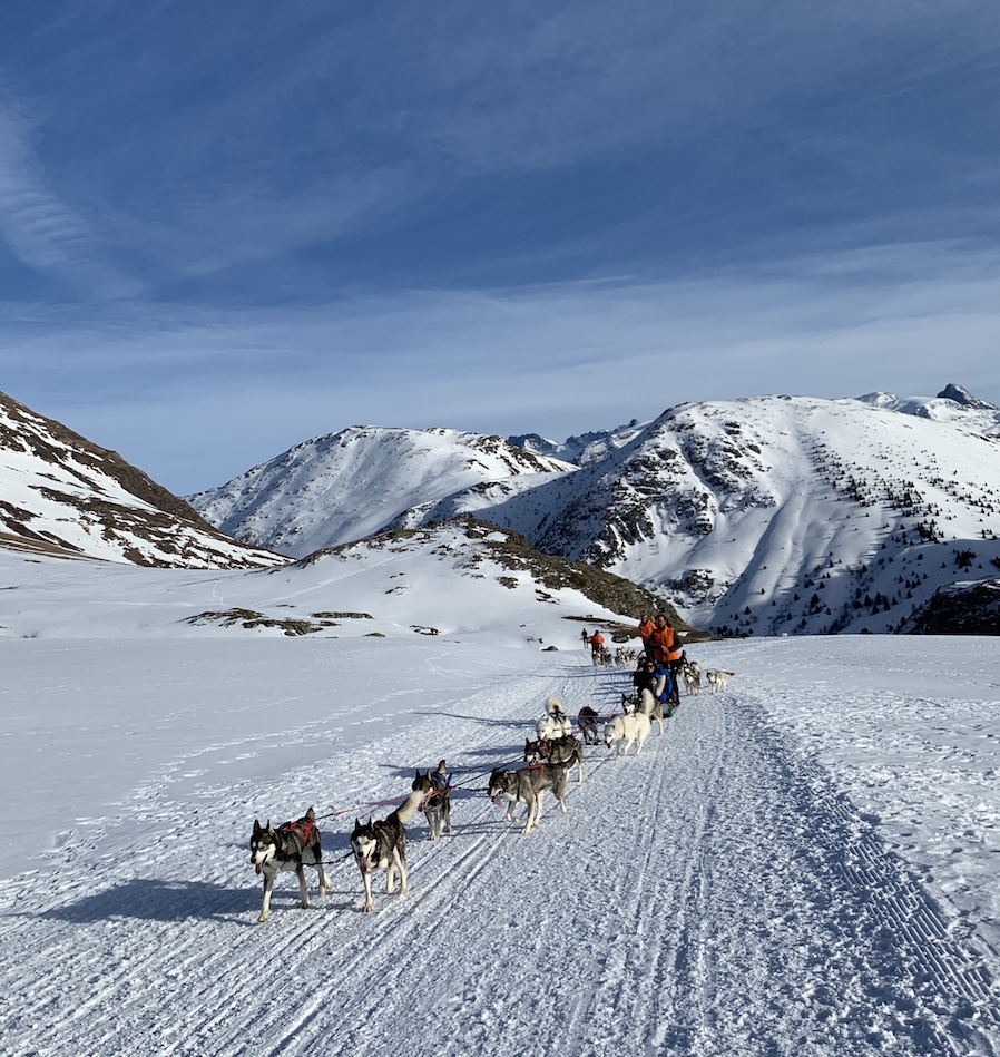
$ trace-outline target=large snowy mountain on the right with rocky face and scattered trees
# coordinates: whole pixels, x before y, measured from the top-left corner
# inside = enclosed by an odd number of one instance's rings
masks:
[[[959,411],[942,421],[802,397],[685,404],[571,477],[469,491],[432,511],[460,512],[645,584],[698,626],[885,632],[939,586],[1000,561],[1000,447]]]

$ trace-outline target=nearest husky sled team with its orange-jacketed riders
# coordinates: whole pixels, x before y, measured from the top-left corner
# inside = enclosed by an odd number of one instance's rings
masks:
[[[558,697],[546,702],[545,714],[535,723],[536,737],[524,741],[524,766],[516,770],[493,767],[487,784],[487,795],[498,806],[504,806],[508,822],[523,822],[523,833],[533,830],[541,818],[546,793],[551,793],[566,813],[566,783],[569,772],[577,769],[577,782],[584,781],[584,746],[597,745],[604,741],[607,748],[615,750],[615,759],[626,755],[629,750],[639,755],[653,732],[664,733],[664,718],[674,715],[679,703],[678,684],[683,683],[688,696],[700,693],[702,671],[698,662],[689,660],[680,649],[674,629],[660,614],[656,622],[643,618],[639,625],[644,649],[639,655],[633,674],[635,693],[622,694],[620,714],[601,717],[589,705],[584,706],[576,718],[579,737],[573,724],[562,708]],[[585,642],[591,645],[595,664],[599,652],[607,652],[600,632],[594,636],[582,633]],[[595,644],[595,639],[598,639]],[[635,656],[635,654],[633,654]],[[724,692],[733,672],[717,668],[705,672],[705,679],[713,694]],[[599,735],[601,720],[604,737]],[[366,823],[354,820],[351,833],[351,855],[361,873],[364,888],[364,910],[374,909],[372,895],[372,873],[384,870],[385,890],[395,891],[399,874],[400,894],[406,894],[406,825],[418,812],[423,812],[428,821],[429,839],[437,841],[442,833],[451,833],[452,775],[444,760],[435,771],[418,770],[411,792],[403,802],[386,818]],[[522,820],[518,820],[514,809],[524,806]],[[330,879],[324,871],[323,850],[316,813],[313,808],[294,822],[285,822],[277,828],[268,819],[265,825],[254,820],[251,835],[251,863],[264,878],[264,903],[258,922],[265,922],[271,911],[271,895],[275,878],[284,871],[294,871],[298,879],[301,904],[310,906],[308,887],[305,880],[305,867],[312,867],[318,875],[318,894],[330,890]]]

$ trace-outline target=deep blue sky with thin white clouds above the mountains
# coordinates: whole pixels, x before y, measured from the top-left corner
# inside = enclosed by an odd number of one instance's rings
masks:
[[[0,390],[178,493],[351,424],[1000,403],[994,0],[0,11]]]

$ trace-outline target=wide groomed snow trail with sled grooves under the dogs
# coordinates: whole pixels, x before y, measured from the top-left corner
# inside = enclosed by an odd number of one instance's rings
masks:
[[[57,874],[12,882],[0,1053],[357,1055],[405,1039],[460,1057],[502,1039],[524,1057],[1000,1054],[971,938],[752,688],[685,698],[638,757],[588,748],[566,816],[548,797],[537,831],[506,823],[487,773],[520,760],[545,698],[609,713],[626,682],[572,665],[512,675],[461,714],[349,759],[333,746],[276,783],[275,804],[322,816],[322,791],[382,800],[441,755],[457,770],[455,832],[431,843],[414,820],[410,893],[376,874],[372,914],[347,839],[355,813],[390,806],[324,819],[332,890],[316,899],[307,870],[302,910],[282,874],[258,926],[259,790],[206,791],[210,813],[177,818],[171,775],[155,776],[134,854],[71,835]]]

